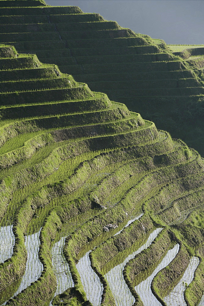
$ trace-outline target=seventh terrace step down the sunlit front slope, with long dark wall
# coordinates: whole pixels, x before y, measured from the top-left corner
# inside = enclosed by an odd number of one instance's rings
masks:
[[[82,116],[83,114],[83,116]],[[59,120],[60,119],[60,120]],[[38,132],[39,130],[60,129],[73,126],[96,125],[101,123],[117,123],[117,121],[132,120],[130,125],[136,125],[138,128],[145,125],[145,121],[139,114],[130,114],[122,108],[113,108],[111,110],[100,110],[95,112],[84,112],[78,114],[67,114],[42,117],[25,118],[21,121],[12,121],[1,126],[1,143],[11,139],[19,134]],[[8,132],[9,128],[9,132]]]

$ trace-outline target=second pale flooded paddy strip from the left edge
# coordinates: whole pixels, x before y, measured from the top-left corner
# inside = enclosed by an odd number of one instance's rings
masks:
[[[24,276],[22,277],[21,283],[17,291],[11,297],[13,298],[22,290],[26,289],[31,285],[32,282],[35,282],[41,275],[43,270],[43,265],[39,260],[38,252],[40,247],[39,240],[40,231],[38,233],[29,235],[25,237],[25,246],[27,249],[27,262],[26,270]],[[5,305],[6,302],[2,305]]]

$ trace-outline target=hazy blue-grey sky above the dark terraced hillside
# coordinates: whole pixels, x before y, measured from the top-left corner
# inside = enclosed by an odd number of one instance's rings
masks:
[[[46,0],[53,6],[79,6],[100,13],[136,33],[168,44],[204,44],[204,0]]]

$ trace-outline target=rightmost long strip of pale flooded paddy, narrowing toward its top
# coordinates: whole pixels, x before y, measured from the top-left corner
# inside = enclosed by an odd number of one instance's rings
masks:
[[[168,306],[174,306],[175,302],[179,306],[187,306],[184,300],[184,291],[186,287],[192,282],[195,269],[198,267],[199,259],[193,256],[190,263],[184,272],[184,275],[180,279],[180,282],[174,287],[174,289],[164,298],[164,301]]]

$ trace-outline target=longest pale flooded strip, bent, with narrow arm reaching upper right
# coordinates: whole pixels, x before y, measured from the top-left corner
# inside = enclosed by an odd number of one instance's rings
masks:
[[[117,265],[113,269],[111,269],[107,274],[105,274],[105,277],[107,279],[107,282],[111,288],[111,291],[113,293],[113,296],[115,298],[115,303],[117,306],[132,306],[135,302],[135,298],[133,297],[132,293],[130,292],[124,278],[122,271],[126,265],[126,263],[135,257],[135,255],[139,254],[142,250],[148,248],[152,241],[158,236],[158,234],[161,232],[162,228],[158,228],[154,230],[148,237],[148,240],[145,244],[143,244],[137,251],[130,254],[123,263]],[[148,306],[151,305],[148,304]]]

